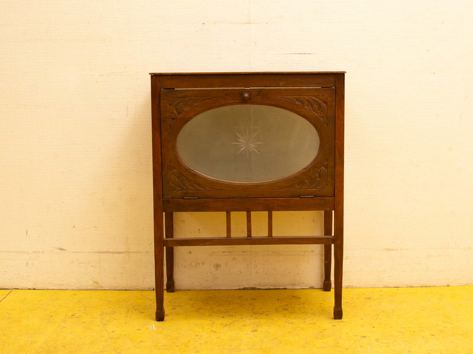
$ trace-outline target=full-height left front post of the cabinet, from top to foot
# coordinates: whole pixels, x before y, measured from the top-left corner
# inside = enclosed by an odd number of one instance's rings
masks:
[[[151,76],[151,131],[153,150],[153,215],[154,215],[154,265],[156,289],[156,320],[163,321],[164,312],[164,225],[163,189],[161,167],[161,120],[159,119],[159,76]]]

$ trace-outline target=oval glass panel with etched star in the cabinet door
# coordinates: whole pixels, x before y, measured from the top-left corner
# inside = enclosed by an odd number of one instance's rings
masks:
[[[177,151],[189,167],[231,182],[288,177],[307,168],[319,147],[319,135],[306,119],[254,104],[208,110],[177,137]]]

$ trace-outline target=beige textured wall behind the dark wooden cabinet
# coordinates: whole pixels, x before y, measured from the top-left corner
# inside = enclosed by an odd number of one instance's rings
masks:
[[[472,284],[472,14],[466,0],[0,1],[0,287],[152,288],[148,73],[259,70],[347,71],[344,286]],[[275,235],[322,232],[321,212],[274,214]],[[176,214],[176,236],[222,236],[224,219]],[[321,287],[322,246],[181,248],[175,279]]]

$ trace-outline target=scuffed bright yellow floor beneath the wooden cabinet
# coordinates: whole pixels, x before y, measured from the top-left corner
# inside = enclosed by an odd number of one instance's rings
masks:
[[[473,287],[0,290],[0,353],[473,353]]]

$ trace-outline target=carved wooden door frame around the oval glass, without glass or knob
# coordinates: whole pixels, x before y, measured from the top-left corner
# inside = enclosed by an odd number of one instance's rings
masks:
[[[165,89],[160,97],[163,199],[334,196],[334,88]],[[194,172],[177,152],[179,132],[207,110],[236,104],[278,107],[306,119],[319,133],[318,155],[306,169],[263,183],[225,182]]]

